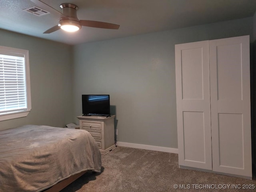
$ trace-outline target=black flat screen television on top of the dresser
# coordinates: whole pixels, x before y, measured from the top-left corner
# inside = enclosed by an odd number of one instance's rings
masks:
[[[82,95],[82,113],[84,116],[110,116],[109,95]]]

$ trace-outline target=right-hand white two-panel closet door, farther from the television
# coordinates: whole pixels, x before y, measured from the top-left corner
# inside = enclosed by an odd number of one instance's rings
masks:
[[[209,44],[213,171],[251,177],[249,36]]]

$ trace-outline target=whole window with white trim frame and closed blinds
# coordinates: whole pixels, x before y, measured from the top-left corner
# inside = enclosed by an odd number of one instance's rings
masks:
[[[28,50],[0,46],[0,121],[31,110]]]

